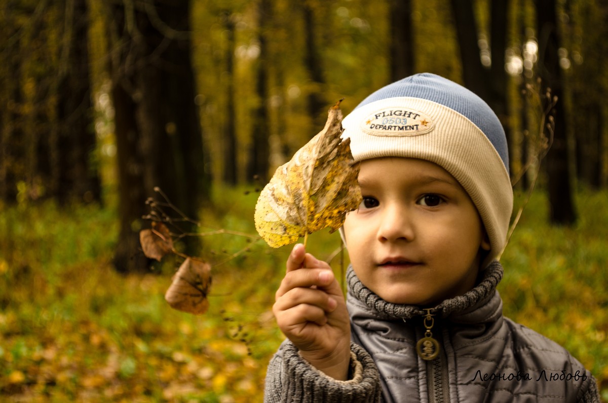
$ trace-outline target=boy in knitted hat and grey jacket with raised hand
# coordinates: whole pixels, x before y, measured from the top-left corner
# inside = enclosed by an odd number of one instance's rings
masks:
[[[267,402],[599,402],[564,348],[502,316],[513,193],[505,133],[467,89],[417,74],[343,121],[363,201],[340,233],[348,296],[295,245]]]

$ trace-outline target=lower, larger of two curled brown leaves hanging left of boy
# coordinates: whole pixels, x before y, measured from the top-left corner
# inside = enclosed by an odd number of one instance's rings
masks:
[[[207,312],[207,292],[211,286],[211,266],[207,262],[187,258],[173,276],[165,300],[173,309],[201,315]]]

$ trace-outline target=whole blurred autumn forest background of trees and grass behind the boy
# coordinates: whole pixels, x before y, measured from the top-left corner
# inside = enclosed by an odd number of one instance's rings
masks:
[[[0,16],[0,400],[261,401],[289,247],[256,240],[258,192],[336,100],[434,72],[499,115],[516,212],[538,178],[502,257],[505,314],[608,401],[607,1],[2,0]],[[179,249],[212,263],[203,316],[164,302],[181,258],[141,251],[155,187]],[[335,234],[309,245],[344,270]]]

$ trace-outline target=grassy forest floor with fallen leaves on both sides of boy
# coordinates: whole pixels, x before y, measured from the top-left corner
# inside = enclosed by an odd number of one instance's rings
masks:
[[[257,194],[222,189],[201,231],[255,234]],[[503,254],[505,315],[568,348],[608,401],[608,192],[577,196],[579,222],[548,226],[537,192]],[[261,401],[282,335],[270,309],[290,247],[247,237],[202,239],[212,263],[207,314],[172,310],[164,292],[179,259],[146,275],[112,270],[112,209],[54,203],[0,212],[0,400],[27,402]],[[339,247],[327,231],[308,250]],[[243,251],[227,261],[232,254]],[[340,270],[339,255],[332,262]]]

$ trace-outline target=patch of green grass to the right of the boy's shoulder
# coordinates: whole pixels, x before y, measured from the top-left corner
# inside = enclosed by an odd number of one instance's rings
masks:
[[[502,256],[504,313],[565,346],[608,401],[608,192],[576,195],[575,226],[547,225],[536,192]]]

